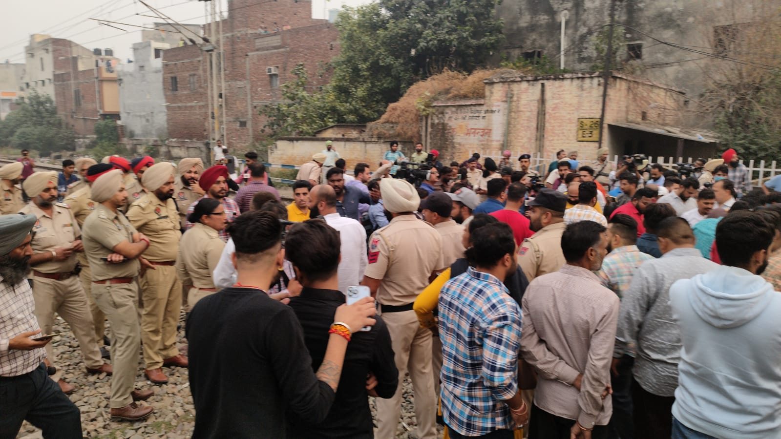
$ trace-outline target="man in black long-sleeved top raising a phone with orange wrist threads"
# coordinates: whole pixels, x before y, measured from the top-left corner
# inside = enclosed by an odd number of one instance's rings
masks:
[[[336,332],[326,330],[328,345],[315,373],[294,312],[266,294],[284,261],[280,220],[273,212],[250,211],[234,219],[229,232],[237,283],[202,298],[187,319],[192,437],[287,437],[286,413],[326,419],[348,333],[375,323],[374,301],[336,309]]]

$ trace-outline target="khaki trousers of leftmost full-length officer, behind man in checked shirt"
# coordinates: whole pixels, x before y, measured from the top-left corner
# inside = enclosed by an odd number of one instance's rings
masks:
[[[35,318],[41,327],[41,334],[52,334],[55,312],[70,325],[70,330],[79,341],[84,363],[95,368],[103,365],[100,349],[95,341],[92,316],[87,309],[87,298],[77,277],[71,276],[65,280],[47,279],[33,276],[33,298],[35,299]],[[52,344],[46,344],[46,356],[52,366],[57,366]],[[62,377],[62,370],[52,375],[57,381]]]

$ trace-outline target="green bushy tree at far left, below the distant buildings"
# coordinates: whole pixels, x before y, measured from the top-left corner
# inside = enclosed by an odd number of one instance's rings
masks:
[[[34,149],[44,156],[73,150],[75,134],[57,116],[49,95],[33,90],[17,103],[20,108],[10,112],[0,125],[0,144]]]

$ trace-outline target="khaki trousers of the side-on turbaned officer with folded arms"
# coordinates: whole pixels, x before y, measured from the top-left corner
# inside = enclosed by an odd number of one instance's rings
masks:
[[[92,297],[105,312],[111,324],[111,377],[109,406],[119,409],[133,402],[130,392],[136,384],[138,348],[141,334],[138,329],[136,284],[92,284]]]

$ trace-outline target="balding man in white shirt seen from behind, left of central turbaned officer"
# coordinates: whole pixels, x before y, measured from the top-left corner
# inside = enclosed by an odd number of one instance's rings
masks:
[[[337,212],[337,194],[328,184],[318,184],[309,192],[309,216],[322,216],[326,223],[339,231],[341,261],[339,262],[339,291],[361,284],[363,272],[369,264],[366,258],[366,229],[361,223]]]

